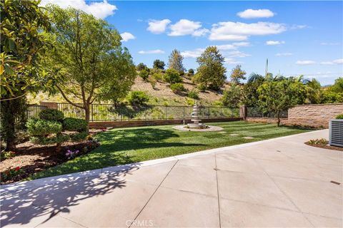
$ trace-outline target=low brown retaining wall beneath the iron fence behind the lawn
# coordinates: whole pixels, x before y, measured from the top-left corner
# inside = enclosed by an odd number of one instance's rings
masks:
[[[229,122],[238,121],[242,118],[216,118],[216,119],[202,119],[202,123],[214,122]],[[150,125],[174,125],[183,124],[184,120],[129,120],[129,121],[94,121],[89,123],[89,128],[127,128],[127,127],[140,127]],[[185,123],[191,123],[191,120],[185,120]]]

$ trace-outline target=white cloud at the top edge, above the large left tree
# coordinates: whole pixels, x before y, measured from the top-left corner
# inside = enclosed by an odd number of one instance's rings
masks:
[[[86,4],[85,0],[42,0],[41,6],[46,4],[56,4],[61,8],[65,9],[68,6],[71,6],[75,9],[81,9],[87,14],[93,14],[96,18],[104,19],[107,16],[114,14],[114,11],[117,10],[116,6],[109,4],[106,0],[91,2]]]

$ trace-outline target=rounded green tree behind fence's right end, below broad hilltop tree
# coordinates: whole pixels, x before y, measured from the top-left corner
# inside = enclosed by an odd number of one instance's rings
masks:
[[[242,101],[242,88],[237,83],[232,83],[224,90],[221,101],[224,106],[239,108],[239,103]]]

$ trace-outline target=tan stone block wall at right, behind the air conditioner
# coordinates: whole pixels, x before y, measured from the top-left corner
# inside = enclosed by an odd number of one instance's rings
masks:
[[[343,103],[320,105],[297,105],[289,108],[283,125],[300,125],[312,128],[329,128],[329,120],[343,113]],[[251,122],[277,123],[276,118],[247,118]]]

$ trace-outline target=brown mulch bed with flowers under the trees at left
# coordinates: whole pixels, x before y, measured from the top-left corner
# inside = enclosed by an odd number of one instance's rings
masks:
[[[90,133],[91,135],[95,135],[102,131],[104,130],[94,130],[90,131]],[[16,150],[14,150],[16,155],[14,157],[7,158],[0,162],[0,173],[4,173],[6,170],[14,169],[16,167],[20,167],[24,172],[12,177],[11,180],[4,180],[4,178],[1,178],[0,184],[4,185],[23,180],[36,172],[66,162],[68,160],[65,155],[67,150],[79,150],[79,155],[84,155],[98,145],[92,140],[64,142],[61,145],[61,151],[56,152],[56,145],[34,145],[31,142],[21,143],[16,145]],[[87,147],[88,150],[85,151],[84,147]]]

